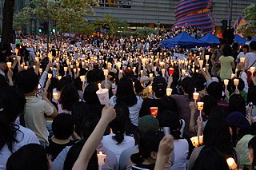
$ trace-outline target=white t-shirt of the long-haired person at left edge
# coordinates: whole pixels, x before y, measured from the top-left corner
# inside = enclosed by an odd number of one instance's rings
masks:
[[[16,139],[18,142],[13,144],[13,152],[16,152],[19,148],[26,144],[39,144],[37,136],[29,128],[24,128],[18,125],[19,131],[17,131]],[[12,152],[10,152],[7,144],[5,144],[0,150],[0,170],[6,169],[6,162]]]

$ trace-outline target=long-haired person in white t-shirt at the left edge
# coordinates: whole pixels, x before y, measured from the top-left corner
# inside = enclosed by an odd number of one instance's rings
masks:
[[[2,88],[0,94],[0,169],[4,170],[12,153],[26,144],[39,144],[39,141],[29,128],[14,123],[25,111],[24,94],[14,87]]]

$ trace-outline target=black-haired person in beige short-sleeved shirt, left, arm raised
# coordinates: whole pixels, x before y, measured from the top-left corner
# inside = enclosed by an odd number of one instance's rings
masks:
[[[15,85],[26,95],[26,128],[30,128],[38,137],[40,144],[46,148],[46,145],[49,145],[46,116],[56,117],[58,112],[48,100],[46,90],[38,89],[38,83],[38,76],[32,70],[21,71],[15,77]],[[36,97],[38,90],[42,92],[42,99]]]

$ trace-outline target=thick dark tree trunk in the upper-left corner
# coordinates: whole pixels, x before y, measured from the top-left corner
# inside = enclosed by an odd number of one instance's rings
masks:
[[[3,7],[2,18],[2,44],[13,42],[13,19],[15,0],[6,0]]]

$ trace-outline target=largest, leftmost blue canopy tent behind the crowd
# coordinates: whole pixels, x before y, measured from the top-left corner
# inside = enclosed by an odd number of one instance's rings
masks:
[[[206,46],[206,43],[198,40],[197,38],[191,37],[189,34],[186,34],[185,32],[182,32],[174,38],[162,40],[161,48],[171,49],[174,48],[176,45],[182,48],[190,49],[195,46]]]

